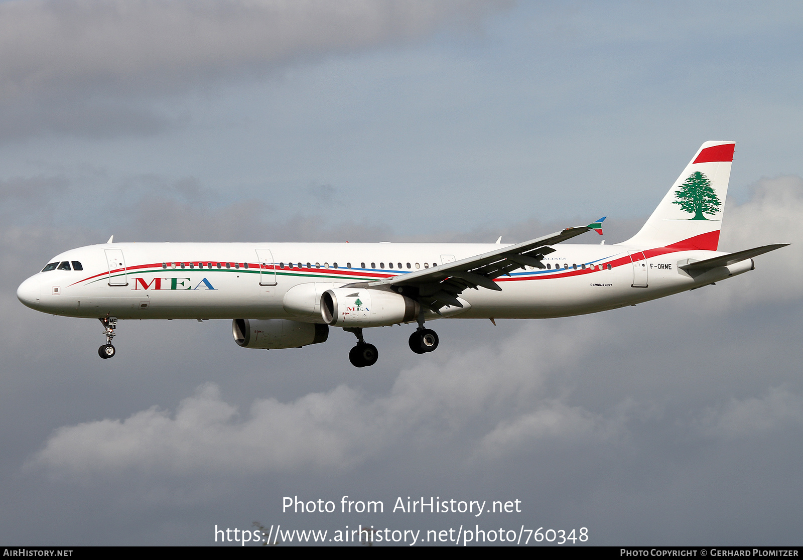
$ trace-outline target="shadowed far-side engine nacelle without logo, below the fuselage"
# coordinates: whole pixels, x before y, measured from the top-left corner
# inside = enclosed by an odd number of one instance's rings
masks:
[[[234,319],[231,332],[243,348],[299,348],[325,343],[329,327],[290,319]]]

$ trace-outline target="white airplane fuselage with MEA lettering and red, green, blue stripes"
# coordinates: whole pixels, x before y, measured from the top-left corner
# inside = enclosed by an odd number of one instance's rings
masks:
[[[340,287],[381,280],[500,247],[479,243],[113,243],[57,255],[51,262],[75,261],[83,270],[40,272],[23,282],[17,294],[35,310],[70,317],[278,318],[322,323],[320,312],[288,310],[287,291],[310,282]],[[748,259],[692,278],[679,269],[679,263],[723,253],[624,245],[558,245],[555,249],[544,258],[548,269],[526,266],[497,278],[501,291],[465,290],[460,298],[469,305],[444,315],[539,319],[594,313],[691,290],[752,269]],[[436,317],[431,314],[427,319]]]

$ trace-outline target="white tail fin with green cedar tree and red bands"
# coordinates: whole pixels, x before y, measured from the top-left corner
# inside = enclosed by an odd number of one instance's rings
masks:
[[[622,245],[715,251],[734,148],[724,141],[700,146],[650,219]]]

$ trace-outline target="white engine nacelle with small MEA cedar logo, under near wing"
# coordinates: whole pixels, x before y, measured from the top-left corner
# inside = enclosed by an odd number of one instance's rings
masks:
[[[418,302],[385,290],[335,288],[320,296],[320,315],[333,327],[382,327],[418,319]]]

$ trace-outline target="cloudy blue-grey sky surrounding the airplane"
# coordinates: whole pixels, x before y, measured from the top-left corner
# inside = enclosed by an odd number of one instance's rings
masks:
[[[801,31],[797,2],[0,2],[0,540],[800,546]],[[227,321],[121,322],[101,360],[99,324],[15,297],[112,234],[514,242],[608,216],[614,243],[706,140],[737,142],[720,249],[792,246],[626,309],[438,321],[427,355],[373,329],[369,371],[339,329],[266,352]],[[346,495],[385,513],[282,511]],[[521,511],[393,513],[408,496]]]

